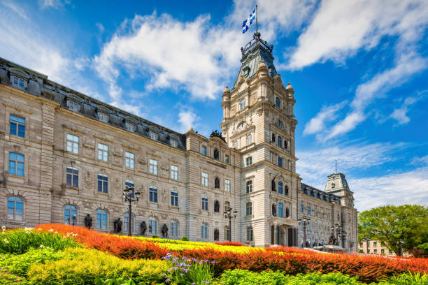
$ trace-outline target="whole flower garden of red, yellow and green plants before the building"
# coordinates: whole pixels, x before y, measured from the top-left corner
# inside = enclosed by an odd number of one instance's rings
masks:
[[[109,235],[44,224],[0,233],[0,284],[428,284],[427,258],[323,254]]]

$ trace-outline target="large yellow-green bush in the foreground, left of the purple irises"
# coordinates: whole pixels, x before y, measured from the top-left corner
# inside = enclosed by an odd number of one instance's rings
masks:
[[[33,265],[28,279],[34,284],[94,284],[97,277],[132,279],[137,284],[164,282],[162,273],[171,266],[166,261],[123,260],[94,249],[66,249],[66,257]]]

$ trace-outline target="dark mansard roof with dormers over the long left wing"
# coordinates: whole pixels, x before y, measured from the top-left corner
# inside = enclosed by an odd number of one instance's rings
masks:
[[[115,108],[112,105],[98,101],[76,90],[69,89],[64,85],[48,80],[47,75],[43,75],[42,73],[38,73],[0,57],[0,83],[17,88],[12,85],[11,76],[16,76],[26,81],[25,92],[56,101],[62,108],[67,108],[67,100],[71,100],[80,105],[80,110],[78,110],[80,115],[92,119],[99,119],[99,112],[103,112],[109,116],[107,124],[125,130],[127,122],[136,124],[134,133],[150,138],[149,132],[155,131],[157,133],[158,142],[169,144],[169,140],[174,139],[178,140],[179,149],[186,149],[186,137],[183,133],[172,131],[164,126],[150,122],[147,119],[143,119],[119,108]]]

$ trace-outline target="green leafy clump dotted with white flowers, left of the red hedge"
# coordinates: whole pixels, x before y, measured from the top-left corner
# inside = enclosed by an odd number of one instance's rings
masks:
[[[31,248],[50,247],[64,250],[77,247],[78,244],[69,237],[62,237],[55,232],[41,232],[32,228],[2,231],[0,233],[0,253],[24,254]]]

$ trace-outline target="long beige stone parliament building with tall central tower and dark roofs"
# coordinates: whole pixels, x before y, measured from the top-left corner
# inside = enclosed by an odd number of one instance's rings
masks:
[[[320,190],[296,173],[296,100],[272,50],[259,34],[241,48],[238,76],[221,94],[221,132],[209,138],[0,58],[0,226],[84,226],[89,214],[105,233],[121,218],[134,235],[144,221],[147,236],[166,225],[169,238],[257,247],[327,244],[339,227],[338,244],[356,251],[357,210],[345,175],[329,175]],[[141,193],[131,217],[125,188]]]

